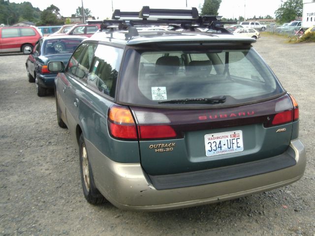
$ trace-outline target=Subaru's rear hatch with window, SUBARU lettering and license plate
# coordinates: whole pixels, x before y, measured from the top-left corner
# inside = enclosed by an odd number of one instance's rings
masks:
[[[262,160],[288,148],[298,116],[251,45],[130,48],[125,61],[117,102],[133,115],[149,176]]]

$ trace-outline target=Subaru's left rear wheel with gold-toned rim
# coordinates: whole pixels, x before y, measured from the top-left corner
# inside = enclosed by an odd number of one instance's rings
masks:
[[[79,139],[79,158],[81,182],[85,199],[91,204],[101,204],[107,202],[107,200],[95,187],[92,168],[83,134],[80,135]]]

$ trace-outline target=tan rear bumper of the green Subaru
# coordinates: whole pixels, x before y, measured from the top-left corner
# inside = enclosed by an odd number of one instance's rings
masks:
[[[304,146],[296,139],[291,141],[287,151],[289,155],[294,155],[292,158],[296,161],[291,167],[228,181],[157,190],[140,164],[114,162],[88,141],[87,146],[95,162],[91,163],[92,168],[102,166],[101,173],[94,173],[96,187],[116,207],[133,210],[192,207],[267,191],[297,181],[303,176],[306,165]]]

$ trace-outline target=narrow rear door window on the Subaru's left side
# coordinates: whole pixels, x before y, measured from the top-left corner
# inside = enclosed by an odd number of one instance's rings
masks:
[[[89,74],[89,69],[92,64],[92,59],[94,56],[97,44],[89,43],[85,47],[82,57],[79,59],[77,64],[77,69],[75,71],[75,76],[81,81],[87,82],[87,76]]]

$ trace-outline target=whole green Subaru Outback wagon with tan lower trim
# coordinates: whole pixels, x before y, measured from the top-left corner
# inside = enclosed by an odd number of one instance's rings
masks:
[[[65,68],[49,63],[88,202],[174,209],[302,177],[298,105],[254,39],[216,24],[209,33],[117,22],[83,41]]]

